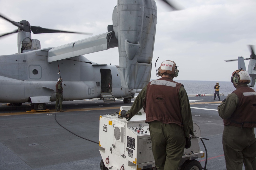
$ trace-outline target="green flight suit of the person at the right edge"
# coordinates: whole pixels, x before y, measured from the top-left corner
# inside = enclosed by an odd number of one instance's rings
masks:
[[[231,93],[226,101],[218,106],[219,116],[228,119],[236,110],[238,96]],[[256,170],[256,139],[254,128],[224,126],[222,145],[225,155],[227,170],[242,169],[243,163],[246,170]]]

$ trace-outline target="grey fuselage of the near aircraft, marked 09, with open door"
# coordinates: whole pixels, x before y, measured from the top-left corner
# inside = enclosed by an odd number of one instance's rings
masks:
[[[55,85],[60,75],[63,100],[101,98],[101,92],[112,93],[116,98],[136,93],[136,90],[121,88],[115,65],[97,64],[84,56],[48,63],[47,50],[0,57],[0,102],[55,101]]]

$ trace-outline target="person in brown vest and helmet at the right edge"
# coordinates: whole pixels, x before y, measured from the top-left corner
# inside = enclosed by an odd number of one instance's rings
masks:
[[[227,170],[256,169],[256,92],[247,84],[250,75],[236,70],[231,76],[236,88],[218,106],[224,122],[222,144]]]

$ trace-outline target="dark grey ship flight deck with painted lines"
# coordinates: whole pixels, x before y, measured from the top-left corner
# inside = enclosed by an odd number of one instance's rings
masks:
[[[189,97],[193,122],[200,127],[201,137],[209,139],[204,140],[206,168],[224,170],[224,126],[217,111],[221,101],[212,99],[213,96]],[[29,112],[29,103],[20,107],[0,103],[0,169],[100,170],[99,118],[119,112],[121,106],[131,106],[133,101],[63,101],[65,112],[57,113],[55,102],[46,103],[48,112],[35,113]],[[206,152],[201,141],[199,146]],[[197,160],[204,168],[206,155]]]

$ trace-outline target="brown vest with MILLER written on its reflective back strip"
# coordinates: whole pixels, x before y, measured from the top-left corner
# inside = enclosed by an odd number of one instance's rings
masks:
[[[147,85],[144,101],[144,111],[147,113],[146,123],[157,120],[166,124],[176,123],[183,127],[178,98],[181,86],[183,85],[166,77],[153,80]],[[155,107],[156,103],[158,107]]]

